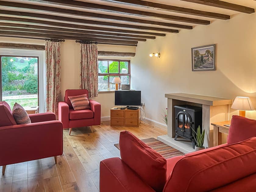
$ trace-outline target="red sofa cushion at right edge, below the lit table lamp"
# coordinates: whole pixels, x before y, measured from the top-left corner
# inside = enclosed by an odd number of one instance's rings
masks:
[[[227,143],[237,143],[251,137],[256,137],[256,120],[233,115]]]

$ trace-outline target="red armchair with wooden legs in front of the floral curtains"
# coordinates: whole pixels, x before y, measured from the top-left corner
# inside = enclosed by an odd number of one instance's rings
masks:
[[[63,124],[63,129],[69,128],[69,135],[72,128],[90,126],[93,132],[93,125],[101,124],[101,104],[94,100],[89,100],[91,109],[83,109],[75,111],[69,100],[69,96],[77,96],[87,94],[87,89],[68,89],[65,92],[64,101],[59,102],[59,120]]]

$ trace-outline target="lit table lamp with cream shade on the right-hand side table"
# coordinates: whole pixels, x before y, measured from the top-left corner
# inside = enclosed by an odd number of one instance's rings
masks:
[[[255,110],[249,97],[236,97],[232,109],[239,110],[239,116],[245,117],[245,111]]]

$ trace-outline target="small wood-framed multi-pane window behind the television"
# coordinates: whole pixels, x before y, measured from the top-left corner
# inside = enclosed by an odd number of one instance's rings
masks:
[[[122,84],[130,84],[130,60],[98,59],[98,64],[99,91],[115,90],[114,77],[120,77]]]

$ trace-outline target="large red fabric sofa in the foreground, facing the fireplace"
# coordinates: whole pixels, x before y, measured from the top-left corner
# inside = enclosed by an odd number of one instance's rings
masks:
[[[165,165],[131,133],[121,132],[119,142],[122,159],[100,163],[101,192],[256,191],[256,137],[169,158]]]

